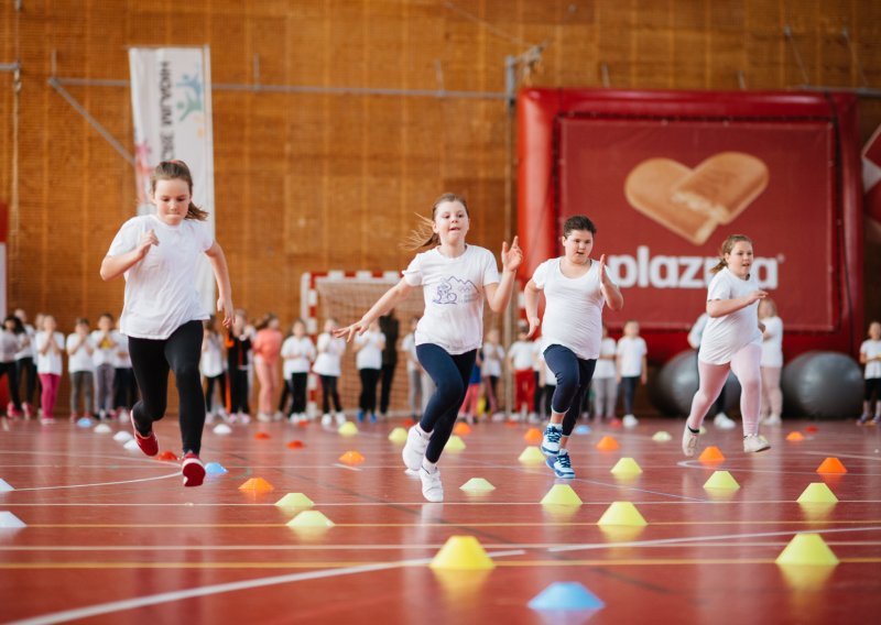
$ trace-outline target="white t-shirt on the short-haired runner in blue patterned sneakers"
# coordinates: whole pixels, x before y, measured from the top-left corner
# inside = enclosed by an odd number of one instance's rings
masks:
[[[542,352],[548,346],[563,346],[584,360],[599,355],[602,337],[602,306],[599,263],[580,277],[566,277],[561,270],[563,257],[543,262],[532,274],[536,288],[544,290]]]

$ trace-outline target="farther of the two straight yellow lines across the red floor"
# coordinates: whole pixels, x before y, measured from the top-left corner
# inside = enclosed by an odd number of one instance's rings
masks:
[[[651,522],[650,526],[679,526],[679,525],[881,525],[881,519],[817,519],[817,520],[661,520]],[[448,523],[337,523],[334,527],[588,527],[597,525],[596,522],[522,522],[522,523],[468,523],[450,520]],[[36,523],[29,525],[31,528],[65,528],[65,529],[98,529],[98,528],[267,528],[287,527],[278,523]]]

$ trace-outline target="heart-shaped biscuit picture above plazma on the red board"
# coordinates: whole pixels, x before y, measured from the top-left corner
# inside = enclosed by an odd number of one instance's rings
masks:
[[[624,180],[630,206],[695,245],[730,223],[768,187],[768,166],[752,154],[720,152],[690,169],[649,158]]]

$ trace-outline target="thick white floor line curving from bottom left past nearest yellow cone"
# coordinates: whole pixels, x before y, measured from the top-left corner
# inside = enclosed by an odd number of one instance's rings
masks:
[[[487,553],[487,555],[490,558],[502,558],[505,556],[522,556],[523,553],[525,553],[525,551],[519,549],[511,551],[497,551],[494,553]],[[255,588],[286,584],[292,582],[319,580],[325,578],[336,578],[340,575],[355,575],[359,573],[385,571],[391,569],[400,569],[403,567],[422,567],[427,564],[432,560],[433,558],[421,558],[417,560],[399,560],[396,562],[382,562],[378,564],[365,564],[360,567],[346,567],[340,569],[330,569],[323,571],[309,571],[306,573],[290,573],[286,575],[273,575],[271,578],[260,578],[255,580],[243,580],[239,582],[213,584],[202,588],[194,588],[189,590],[162,592],[149,596],[139,596],[135,599],[126,599],[122,601],[111,601],[109,603],[99,603],[86,607],[76,607],[74,610],[53,612],[51,614],[44,614],[42,616],[35,616],[33,618],[13,621],[12,623],[14,625],[48,625],[51,623],[64,623],[65,621],[74,621],[77,618],[89,618],[93,616],[99,616],[101,614],[112,614],[115,612],[135,610],[138,607],[145,607],[148,605],[159,605],[161,603],[172,603],[175,601],[183,601],[196,596],[207,596],[214,594],[221,594],[226,592],[236,592],[240,590],[250,590]]]

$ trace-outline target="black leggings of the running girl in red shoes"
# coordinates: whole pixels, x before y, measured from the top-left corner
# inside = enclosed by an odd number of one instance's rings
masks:
[[[202,338],[202,321],[187,321],[164,340],[129,337],[131,365],[142,395],[132,408],[138,431],[146,435],[153,421],[165,416],[171,369],[177,385],[184,453],[198,453],[202,449],[205,427],[205,396],[199,380]]]

